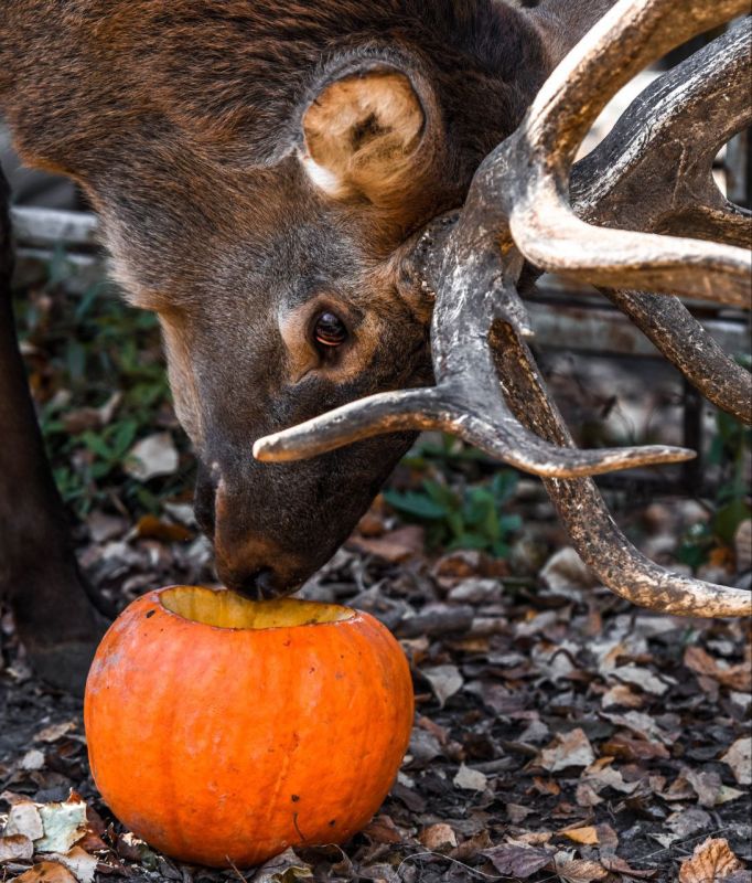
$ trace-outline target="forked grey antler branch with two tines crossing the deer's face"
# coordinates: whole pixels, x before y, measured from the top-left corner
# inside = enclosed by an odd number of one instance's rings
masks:
[[[464,249],[465,241],[460,236],[459,242]],[[294,460],[408,429],[443,429],[518,469],[559,478],[695,456],[686,448],[665,445],[567,449],[526,429],[504,401],[488,349],[488,329],[496,319],[515,328],[517,334],[525,333],[525,307],[516,290],[504,285],[498,248],[469,255],[470,266],[458,262],[458,247],[450,246],[447,284],[433,313],[437,386],[379,393],[344,405],[258,439],[254,456],[264,461]],[[484,292],[480,301],[479,291]]]

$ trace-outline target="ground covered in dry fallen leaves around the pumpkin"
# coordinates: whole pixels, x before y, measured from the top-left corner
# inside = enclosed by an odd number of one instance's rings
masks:
[[[207,871],[154,853],[101,802],[80,702],[34,679],[9,620],[4,809],[80,795],[94,811],[84,847],[97,881],[668,883],[708,838],[739,862],[724,880],[752,879],[742,870],[752,862],[748,625],[636,610],[592,585],[568,551],[535,579],[508,578],[504,562],[477,552],[429,556],[419,528],[390,530],[383,511],[307,587],[378,616],[411,662],[410,748],[362,834],[266,870]],[[128,545],[120,566],[157,561],[159,546],[165,561],[174,554],[169,542]],[[10,861],[4,879],[30,866]],[[86,879],[93,869],[74,870]]]

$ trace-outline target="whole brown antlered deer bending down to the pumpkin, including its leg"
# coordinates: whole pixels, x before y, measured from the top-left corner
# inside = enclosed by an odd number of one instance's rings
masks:
[[[337,0],[280,17],[269,0],[0,4],[17,143],[84,185],[131,299],[160,315],[203,462],[196,512],[228,584],[294,588],[346,538],[410,433],[440,428],[540,476],[581,557],[620,595],[683,615],[752,613],[750,593],[642,556],[591,478],[692,451],[577,449],[528,349],[525,285],[545,270],[588,281],[711,402],[750,418],[750,375],[677,299],[749,307],[750,217],[710,177],[749,124],[749,21],[657,81],[573,163],[636,71],[746,3],[621,0],[522,119],[562,34],[579,39],[609,6],[546,0],[528,17],[445,0],[426,15],[417,0]],[[0,212],[0,589],[37,669],[69,684],[100,624],[44,467],[2,291],[7,234]],[[309,372],[311,319],[324,348],[342,339],[330,300],[368,318],[367,345]]]

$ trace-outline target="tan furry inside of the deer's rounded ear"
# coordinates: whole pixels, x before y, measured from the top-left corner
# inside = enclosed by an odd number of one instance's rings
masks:
[[[405,74],[380,70],[343,76],[303,114],[303,166],[330,196],[394,204],[413,178],[425,125]]]

